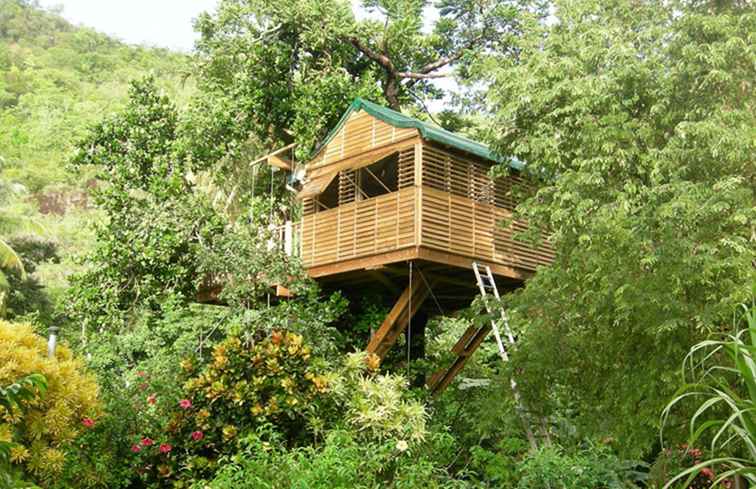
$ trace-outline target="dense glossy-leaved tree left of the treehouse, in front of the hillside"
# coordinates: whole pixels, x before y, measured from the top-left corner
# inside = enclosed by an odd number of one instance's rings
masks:
[[[115,320],[137,303],[158,308],[166,295],[193,300],[200,243],[223,221],[190,191],[187,166],[175,158],[176,108],[151,78],[132,85],[122,112],[92,128],[74,167],[93,166],[106,185],[96,199],[108,220],[88,257],[97,264],[73,279],[70,310],[85,324]]]

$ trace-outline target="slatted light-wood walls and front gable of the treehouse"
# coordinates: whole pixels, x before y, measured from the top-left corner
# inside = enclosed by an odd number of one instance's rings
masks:
[[[353,114],[321,155],[321,163],[393,144],[401,130],[388,128],[365,113]],[[528,271],[553,260],[548,244],[534,248],[514,239],[527,223],[501,227],[516,205],[512,189],[524,185],[519,176],[493,181],[489,163],[428,143],[400,150],[398,164],[399,191],[355,200],[353,186],[342,182],[339,207],[305,212],[300,250],[306,267],[411,246]],[[310,202],[305,205],[312,208]]]

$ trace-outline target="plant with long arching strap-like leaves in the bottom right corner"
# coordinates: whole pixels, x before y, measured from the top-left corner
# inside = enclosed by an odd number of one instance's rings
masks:
[[[721,468],[714,484],[737,476],[756,482],[756,304],[743,306],[742,323],[722,340],[698,343],[685,359],[697,382],[685,385],[663,416],[683,399],[703,397],[690,420],[689,443],[710,439],[712,456],[680,472],[665,488],[683,479],[687,487],[703,472],[714,478],[712,468]]]

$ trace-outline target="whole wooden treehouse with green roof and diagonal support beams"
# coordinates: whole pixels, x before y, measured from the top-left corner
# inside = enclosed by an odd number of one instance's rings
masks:
[[[489,149],[436,126],[357,99],[304,167],[297,251],[326,289],[356,295],[376,285],[391,297],[367,350],[381,358],[411,324],[422,348],[429,315],[466,307],[477,294],[472,263],[490,266],[500,287],[519,287],[552,259],[503,227],[522,165],[492,180]],[[490,328],[471,328],[457,360],[429,381],[443,390]],[[422,354],[422,352],[421,352]]]

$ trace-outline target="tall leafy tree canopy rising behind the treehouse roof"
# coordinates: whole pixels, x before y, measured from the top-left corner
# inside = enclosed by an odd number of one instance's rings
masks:
[[[376,18],[358,20],[343,0],[222,1],[196,23],[203,95],[187,151],[212,164],[243,157],[250,144],[295,141],[304,158],[355,97],[401,110],[439,95],[428,80],[506,50],[515,30],[509,2],[444,0],[426,29],[428,6],[367,0]]]

